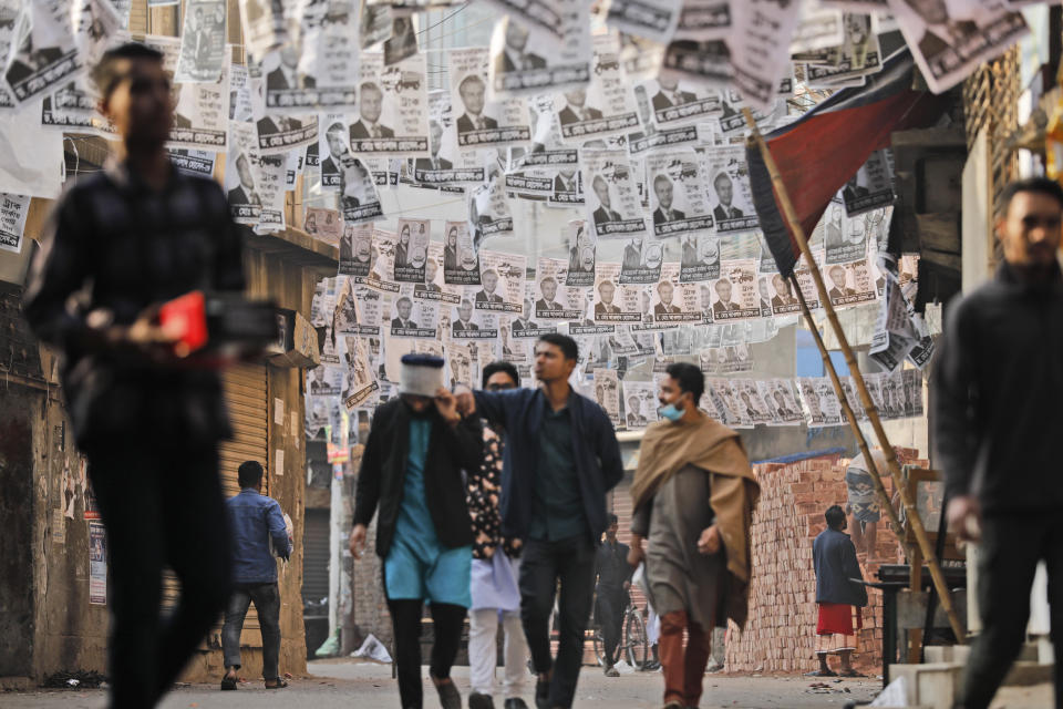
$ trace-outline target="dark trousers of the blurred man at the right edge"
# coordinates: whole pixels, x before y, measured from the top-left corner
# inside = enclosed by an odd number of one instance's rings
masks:
[[[985,709],[1022,650],[1030,589],[1044,561],[1049,572],[1052,644],[1063,657],[1063,527],[1059,514],[985,515],[978,557],[982,633],[971,646],[957,707]],[[1055,664],[1055,707],[1063,709],[1063,664]]]

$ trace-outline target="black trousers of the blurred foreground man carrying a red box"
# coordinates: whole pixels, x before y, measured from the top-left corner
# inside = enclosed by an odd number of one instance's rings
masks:
[[[111,706],[154,707],[229,597],[217,450],[131,432],[123,445],[89,451],[89,479],[107,532]],[[163,617],[167,565],[182,592]]]

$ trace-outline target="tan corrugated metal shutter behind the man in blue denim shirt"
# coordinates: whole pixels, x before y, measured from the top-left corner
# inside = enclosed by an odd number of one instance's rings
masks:
[[[258,461],[269,470],[269,386],[265,364],[231,367],[221,377],[225,400],[233,424],[233,439],[218,446],[218,474],[221,492],[226,497],[240,492],[237,469],[248,460]],[[262,492],[269,494],[269,475],[262,481]],[[177,603],[180,585],[173,572],[163,575],[163,608],[173,608]],[[240,645],[261,647],[258,612],[254,604],[244,621]]]

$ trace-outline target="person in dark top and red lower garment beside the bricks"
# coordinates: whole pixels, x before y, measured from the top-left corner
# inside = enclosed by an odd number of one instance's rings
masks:
[[[853,669],[853,653],[859,649],[856,630],[863,627],[860,608],[867,605],[867,589],[854,578],[863,578],[856,561],[856,545],[844,532],[845,510],[827,507],[824,517],[827,528],[812,543],[812,558],[816,568],[816,657],[819,669],[813,677],[837,677],[827,665],[828,655],[842,660],[842,677],[860,677]]]

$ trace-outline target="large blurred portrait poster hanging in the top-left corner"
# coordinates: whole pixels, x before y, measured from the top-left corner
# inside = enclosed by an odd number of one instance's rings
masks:
[[[13,55],[4,58],[4,80],[18,103],[34,96],[51,93],[69,82],[84,66],[86,59],[74,42],[70,0],[41,0],[27,3],[24,14],[14,19]],[[110,3],[106,3],[110,7]],[[99,7],[99,3],[92,3]],[[117,13],[114,13],[114,27]],[[110,34],[106,28],[94,30],[103,39]]]

